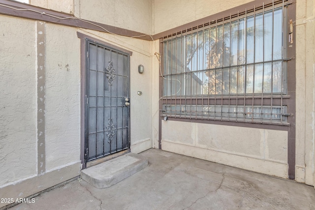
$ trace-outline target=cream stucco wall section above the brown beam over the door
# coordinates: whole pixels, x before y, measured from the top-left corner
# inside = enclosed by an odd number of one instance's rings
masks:
[[[152,34],[152,0],[30,0],[30,4],[96,23]]]

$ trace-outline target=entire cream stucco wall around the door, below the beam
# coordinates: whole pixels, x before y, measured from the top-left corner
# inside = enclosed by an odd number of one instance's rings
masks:
[[[130,57],[131,151],[152,147],[152,42],[57,24],[0,16],[0,197],[18,198],[80,174],[81,55],[77,31],[132,51]],[[36,33],[44,33],[44,54]],[[45,71],[45,170],[37,172],[37,57]],[[138,65],[145,67],[138,73]],[[137,91],[142,91],[138,95]],[[0,207],[5,204],[0,204]]]

